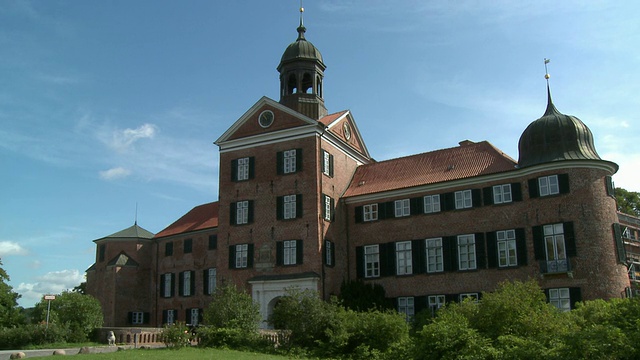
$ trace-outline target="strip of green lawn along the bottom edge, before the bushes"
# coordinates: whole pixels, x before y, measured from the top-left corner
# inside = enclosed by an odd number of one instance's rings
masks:
[[[189,359],[225,359],[225,360],[283,360],[290,359],[286,356],[267,355],[261,353],[241,352],[235,350],[218,350],[203,348],[171,349],[129,349],[104,354],[79,354],[80,360],[129,360],[129,359],[154,359],[154,360],[189,360]]]

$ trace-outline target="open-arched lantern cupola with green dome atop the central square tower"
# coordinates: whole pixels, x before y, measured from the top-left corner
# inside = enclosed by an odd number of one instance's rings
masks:
[[[287,46],[282,54],[280,72],[280,103],[312,119],[327,115],[322,98],[322,79],[326,66],[322,54],[304,37],[304,27],[300,8],[298,39]]]

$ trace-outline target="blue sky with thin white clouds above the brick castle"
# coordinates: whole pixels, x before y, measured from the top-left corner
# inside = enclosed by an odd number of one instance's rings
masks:
[[[554,104],[640,191],[640,2],[304,1],[330,113],[386,160],[518,139]],[[79,285],[93,240],[218,198],[213,142],[262,96],[298,0],[0,1],[0,259],[31,307]]]

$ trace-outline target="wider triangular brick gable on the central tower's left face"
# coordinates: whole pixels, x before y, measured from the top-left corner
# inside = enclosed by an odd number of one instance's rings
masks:
[[[262,127],[258,122],[258,117],[265,110],[270,110],[274,114],[273,123],[268,127]],[[215,141],[215,144],[219,145],[230,140],[307,125],[317,125],[317,121],[263,96],[249,108],[244,115],[233,123],[233,125]]]

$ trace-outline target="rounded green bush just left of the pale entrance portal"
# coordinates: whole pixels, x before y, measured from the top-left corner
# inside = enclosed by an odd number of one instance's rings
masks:
[[[235,285],[220,286],[204,310],[204,322],[216,328],[256,332],[260,322],[260,306],[251,295]]]

